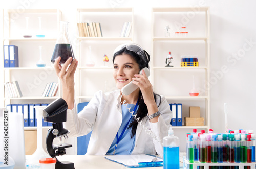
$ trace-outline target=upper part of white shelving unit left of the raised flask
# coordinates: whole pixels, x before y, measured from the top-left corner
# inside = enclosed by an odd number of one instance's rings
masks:
[[[4,70],[3,81],[17,80],[23,97],[8,98],[5,93],[1,105],[5,107],[7,104],[14,103],[50,103],[60,96],[60,89],[56,97],[41,97],[41,94],[48,82],[55,81],[60,84],[50,59],[57,39],[61,11],[58,9],[25,9],[22,14],[15,13],[15,17],[13,12],[15,12],[13,9],[3,10],[2,43],[19,47],[19,67],[4,68],[2,64],[1,68]],[[37,22],[39,16],[42,18],[42,31],[46,35],[44,38],[35,36],[39,30],[39,22]],[[26,30],[25,17],[29,17],[31,38],[23,37]],[[46,62],[46,67],[42,68],[36,67],[36,62],[39,60],[39,45],[43,47],[42,55]],[[5,91],[4,87],[2,88]]]

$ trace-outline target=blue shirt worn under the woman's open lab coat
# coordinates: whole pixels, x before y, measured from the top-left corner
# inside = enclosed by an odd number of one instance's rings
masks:
[[[122,124],[118,130],[118,137],[121,135],[125,125],[128,123],[129,119],[132,116],[132,113],[130,113],[128,111],[128,109],[126,109],[126,105],[127,105],[127,108],[131,107],[130,111],[133,111],[133,109],[135,107],[135,105],[133,105],[133,104],[122,104]],[[137,109],[138,109],[138,107],[137,107]],[[136,109],[136,111],[137,111],[137,109]],[[134,117],[132,117],[132,118],[134,118]],[[132,119],[131,119],[131,121],[132,121]],[[131,123],[131,121],[130,121],[130,123]],[[135,145],[135,135],[133,138],[131,138],[131,132],[132,132],[132,128],[125,130],[121,140],[117,144],[115,155],[132,154],[134,145]],[[116,142],[117,142],[117,138],[115,137],[115,139],[113,140],[113,142],[110,146],[109,151],[106,153],[107,155],[113,155],[113,152],[114,152],[114,149],[116,146]]]

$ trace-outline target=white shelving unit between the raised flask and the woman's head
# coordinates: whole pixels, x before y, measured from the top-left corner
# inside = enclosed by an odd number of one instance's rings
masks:
[[[79,37],[77,31],[78,68],[75,93],[77,103],[90,101],[98,90],[111,91],[115,89],[112,80],[113,50],[118,45],[132,42],[134,39],[133,8],[77,9],[77,23],[81,22],[99,22],[102,37]],[[124,22],[132,23],[129,37],[120,37]],[[91,46],[91,56],[89,56],[89,46]],[[104,46],[103,50],[101,50],[102,46]],[[104,55],[109,58],[106,66],[103,63]],[[86,66],[88,57],[92,57],[95,66]],[[102,83],[98,83],[96,79],[101,79]]]

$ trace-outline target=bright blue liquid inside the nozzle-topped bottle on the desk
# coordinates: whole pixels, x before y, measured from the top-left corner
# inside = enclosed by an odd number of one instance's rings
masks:
[[[163,168],[179,169],[180,168],[180,149],[179,147],[163,147]]]

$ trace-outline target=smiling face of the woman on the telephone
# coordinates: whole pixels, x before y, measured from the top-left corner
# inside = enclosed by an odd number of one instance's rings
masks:
[[[127,54],[117,55],[113,67],[113,77],[118,89],[131,82],[134,74],[139,74],[140,71],[139,64]]]

